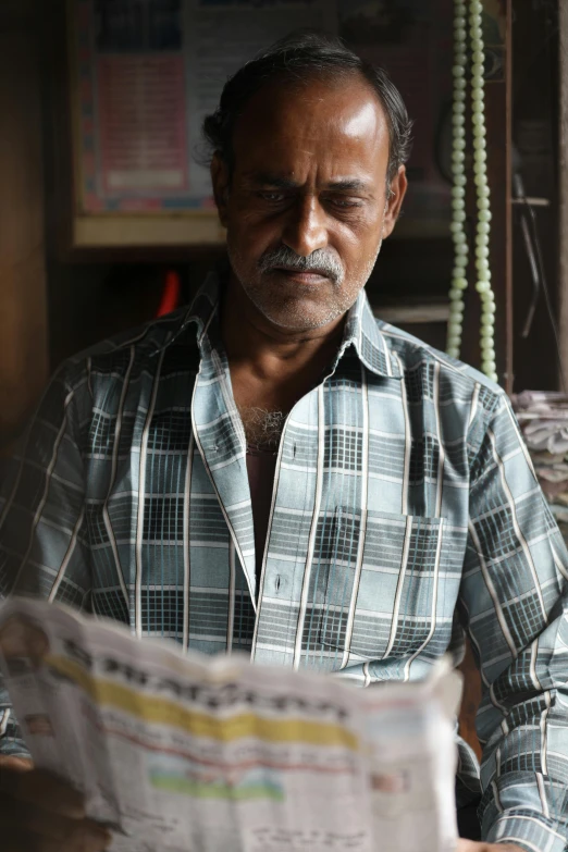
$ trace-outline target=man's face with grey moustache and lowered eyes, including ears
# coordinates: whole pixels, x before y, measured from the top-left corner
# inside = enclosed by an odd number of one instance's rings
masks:
[[[343,314],[371,274],[406,192],[391,184],[388,128],[357,76],[271,83],[238,119],[234,170],[215,157],[213,188],[234,275],[281,329],[318,329]]]

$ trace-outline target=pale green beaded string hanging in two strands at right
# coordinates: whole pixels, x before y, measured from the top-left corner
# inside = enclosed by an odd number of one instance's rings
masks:
[[[491,288],[489,266],[490,188],[486,169],[486,128],[484,116],[484,45],[482,28],[483,7],[480,0],[455,0],[454,17],[454,147],[452,165],[452,237],[454,239],[454,272],[449,291],[449,320],[447,324],[447,354],[459,358],[464,325],[464,292],[468,287],[467,267],[469,245],[466,234],[466,67],[467,25],[471,48],[471,124],[473,132],[473,174],[477,194],[478,221],[476,227],[476,289],[481,299],[481,369],[497,381],[495,363],[495,296]]]

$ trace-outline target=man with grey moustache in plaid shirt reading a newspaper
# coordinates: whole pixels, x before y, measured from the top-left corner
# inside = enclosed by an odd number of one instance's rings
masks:
[[[458,663],[465,628],[485,751],[480,780],[460,743],[458,807],[481,795],[485,843],[564,849],[568,555],[502,391],[363,292],[406,192],[398,92],[302,35],[242,69],[205,132],[230,269],[54,378],[4,487],[1,593],[361,686]],[[14,848],[104,848],[16,763]]]

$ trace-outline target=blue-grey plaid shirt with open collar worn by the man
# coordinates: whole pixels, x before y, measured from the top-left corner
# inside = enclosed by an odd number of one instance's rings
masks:
[[[218,282],[66,362],[0,502],[0,595],[32,593],[206,653],[422,678],[464,630],[483,681],[487,841],[566,844],[568,555],[504,393],[378,322],[363,293],[282,435],[260,585]],[[3,708],[3,709],[2,709]],[[22,753],[0,696],[4,752]]]

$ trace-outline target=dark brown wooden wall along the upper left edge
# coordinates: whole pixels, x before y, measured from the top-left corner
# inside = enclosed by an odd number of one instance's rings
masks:
[[[33,0],[0,4],[0,447],[48,374],[41,58]]]

